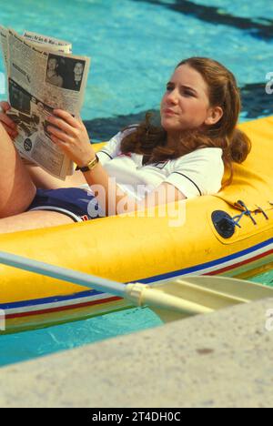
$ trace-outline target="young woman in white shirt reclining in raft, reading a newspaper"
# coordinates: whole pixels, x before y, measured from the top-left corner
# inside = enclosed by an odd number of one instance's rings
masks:
[[[2,233],[91,219],[97,211],[101,216],[117,214],[120,206],[137,210],[151,199],[159,205],[217,193],[224,168],[230,170],[230,182],[232,162],[244,161],[250,150],[248,137],[236,128],[240,111],[236,79],[208,58],[178,64],[162,98],[161,127],[153,126],[147,115],[145,123],[127,127],[97,156],[83,122],[55,110],[47,131],[82,169],[66,182],[40,167],[25,166],[11,140],[16,129],[5,114],[9,106],[1,105]],[[93,190],[91,196],[79,188],[83,184]]]

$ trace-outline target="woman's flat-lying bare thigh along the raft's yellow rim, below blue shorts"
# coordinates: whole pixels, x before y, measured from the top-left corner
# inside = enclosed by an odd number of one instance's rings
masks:
[[[0,219],[0,234],[8,234],[27,229],[57,227],[75,223],[72,218],[55,211],[26,211],[12,218]]]

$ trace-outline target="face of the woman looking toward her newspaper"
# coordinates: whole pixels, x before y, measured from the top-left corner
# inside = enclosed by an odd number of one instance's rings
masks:
[[[169,133],[201,127],[209,116],[207,83],[188,65],[179,66],[161,102],[161,125]]]

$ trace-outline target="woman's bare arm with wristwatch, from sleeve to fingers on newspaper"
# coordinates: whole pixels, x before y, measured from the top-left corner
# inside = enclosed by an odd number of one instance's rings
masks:
[[[55,116],[48,121],[54,127],[48,127],[54,143],[60,147],[79,167],[95,158],[96,154],[89,143],[86,127],[81,120],[72,117],[66,111],[55,110]],[[167,204],[186,197],[177,188],[163,183],[154,192],[147,195],[141,202],[128,197],[121,188],[116,186],[116,180],[109,177],[100,163],[85,174],[87,184],[93,189],[99,204],[106,211],[106,216],[145,209],[147,207]]]

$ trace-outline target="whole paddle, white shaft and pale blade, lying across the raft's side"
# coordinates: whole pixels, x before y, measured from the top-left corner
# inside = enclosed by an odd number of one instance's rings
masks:
[[[0,251],[0,263],[114,294],[136,306],[148,306],[165,321],[273,297],[271,288],[226,277],[182,277],[151,285],[123,284],[3,251]]]

